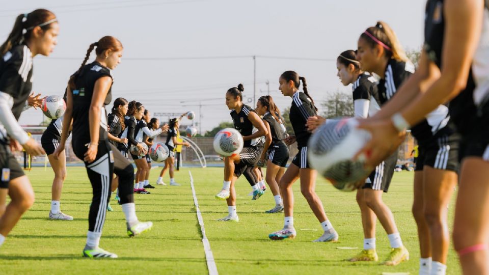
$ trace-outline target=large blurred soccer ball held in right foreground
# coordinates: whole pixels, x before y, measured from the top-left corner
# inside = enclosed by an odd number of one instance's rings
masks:
[[[310,137],[308,157],[311,166],[344,191],[357,189],[371,171],[364,167],[365,155],[355,154],[370,140],[370,133],[357,128],[354,118],[327,120]]]

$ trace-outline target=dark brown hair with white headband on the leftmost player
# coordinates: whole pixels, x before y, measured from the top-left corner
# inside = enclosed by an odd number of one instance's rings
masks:
[[[43,31],[49,30],[51,28],[51,22],[49,24],[43,25],[50,20],[56,19],[56,15],[51,11],[46,9],[37,9],[30,13],[19,14],[15,18],[15,23],[10,32],[7,40],[0,46],[0,54],[2,56],[24,40],[29,40],[32,35],[32,31],[36,26],[40,26]]]

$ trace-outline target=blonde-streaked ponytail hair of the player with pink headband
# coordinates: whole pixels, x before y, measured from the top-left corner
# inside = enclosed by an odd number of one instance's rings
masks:
[[[381,45],[388,58],[403,62],[409,60],[396,33],[384,21],[378,21],[375,26],[368,28],[360,37],[368,41],[371,47]]]

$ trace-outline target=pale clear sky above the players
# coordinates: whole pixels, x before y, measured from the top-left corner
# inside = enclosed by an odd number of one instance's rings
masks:
[[[90,43],[112,35],[124,45],[122,63],[112,72],[113,98],[138,100],[152,112],[193,110],[197,122],[199,107],[191,105],[204,100],[203,131],[221,121],[231,121],[224,104],[227,89],[242,82],[245,102],[253,97],[252,56],[257,56],[257,98],[266,94],[268,80],[270,95],[280,109],[289,106],[291,99],[277,91],[278,78],[283,71],[294,70],[306,77],[320,108],[319,102],[328,92],[351,91],[336,76],[336,58],[343,50],[355,49],[359,35],[377,20],[389,23],[404,47],[420,48],[425,5],[424,0],[0,3],[2,41],[20,13],[46,8],[59,18],[61,31],[55,51],[49,58],[34,59],[34,91],[62,95]],[[40,111],[24,112],[20,118],[23,125],[41,121]]]

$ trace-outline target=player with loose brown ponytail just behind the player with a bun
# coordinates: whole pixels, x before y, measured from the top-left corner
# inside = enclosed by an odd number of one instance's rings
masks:
[[[265,212],[278,213],[284,210],[278,182],[284,175],[289,160],[289,149],[283,142],[287,132],[280,116],[280,110],[271,96],[262,96],[258,99],[256,113],[263,117],[262,120],[268,132],[265,135],[263,151],[257,164],[260,167],[266,166],[266,183],[275,199],[275,207]],[[268,159],[265,159],[267,153]]]

